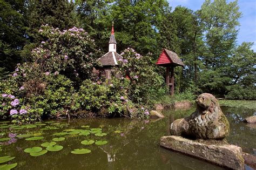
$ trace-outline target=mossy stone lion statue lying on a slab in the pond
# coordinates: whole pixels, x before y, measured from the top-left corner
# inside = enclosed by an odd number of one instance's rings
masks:
[[[218,100],[210,93],[200,94],[196,100],[197,110],[189,117],[173,121],[172,135],[196,139],[223,139],[230,124],[220,109]]]

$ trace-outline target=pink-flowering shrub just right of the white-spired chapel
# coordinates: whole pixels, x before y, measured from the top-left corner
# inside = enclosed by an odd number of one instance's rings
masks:
[[[119,60],[118,70],[130,78],[127,95],[134,103],[150,104],[165,94],[164,79],[155,70],[150,56],[142,56],[127,48]]]

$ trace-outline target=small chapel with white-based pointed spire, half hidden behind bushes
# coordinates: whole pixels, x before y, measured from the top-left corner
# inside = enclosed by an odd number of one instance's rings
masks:
[[[117,42],[114,37],[114,25],[112,24],[111,36],[109,40],[109,52],[105,53],[104,56],[100,57],[99,62],[101,67],[94,69],[93,72],[97,72],[101,75],[105,74],[106,79],[111,79],[111,73],[114,73],[114,66],[117,66],[118,60],[123,60],[123,57],[117,53]],[[116,77],[120,77],[116,75]]]

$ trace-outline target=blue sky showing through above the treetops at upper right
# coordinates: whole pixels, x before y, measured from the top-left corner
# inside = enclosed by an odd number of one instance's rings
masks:
[[[204,0],[168,0],[172,9],[176,6],[185,6],[194,11],[201,8]],[[227,0],[227,2],[232,2]],[[239,19],[240,27],[237,43],[254,42],[252,49],[256,52],[256,0],[238,0],[242,17]]]

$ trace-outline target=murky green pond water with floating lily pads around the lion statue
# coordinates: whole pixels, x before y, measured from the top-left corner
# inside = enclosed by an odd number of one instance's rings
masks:
[[[244,152],[256,155],[256,129],[241,121],[247,116],[255,115],[255,110],[221,108],[230,121],[227,141],[241,146]],[[159,146],[159,138],[169,135],[170,123],[194,110],[195,108],[166,110],[166,117],[159,120],[93,118],[45,121],[29,126],[11,126],[10,123],[2,122],[0,157],[15,158],[0,166],[17,163],[17,169],[223,169]],[[28,140],[31,138],[38,140]],[[52,142],[53,138],[57,138],[56,144]],[[65,139],[62,140],[63,138]],[[47,147],[48,145],[53,146]],[[32,147],[41,147],[43,151]],[[45,151],[46,148],[48,152]],[[75,150],[82,148],[85,149]],[[35,157],[38,154],[31,153],[31,156],[24,152],[25,149],[26,152],[41,151],[42,155]]]

